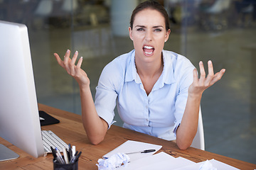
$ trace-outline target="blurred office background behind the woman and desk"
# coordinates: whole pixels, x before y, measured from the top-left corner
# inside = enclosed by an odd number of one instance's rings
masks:
[[[67,49],[84,57],[92,96],[102,68],[133,49],[129,17],[139,0],[0,0],[0,20],[24,23],[38,102],[80,114],[78,84],[60,66]],[[165,50],[226,72],[203,94],[206,151],[256,164],[256,1],[162,0],[171,35]],[[18,85],[18,83],[17,83]],[[122,125],[116,115],[116,125]]]

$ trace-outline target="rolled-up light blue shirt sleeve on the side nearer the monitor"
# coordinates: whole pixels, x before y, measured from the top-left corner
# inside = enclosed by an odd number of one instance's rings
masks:
[[[95,108],[97,114],[105,120],[108,128],[114,121],[114,108],[117,100],[118,67],[114,62],[110,62],[102,70],[99,82],[96,87]]]

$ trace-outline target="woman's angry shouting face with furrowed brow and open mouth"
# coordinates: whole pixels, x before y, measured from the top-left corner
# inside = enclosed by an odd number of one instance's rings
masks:
[[[170,32],[166,30],[164,16],[159,11],[149,8],[139,11],[134,17],[133,28],[129,28],[135,56],[144,62],[159,60]]]

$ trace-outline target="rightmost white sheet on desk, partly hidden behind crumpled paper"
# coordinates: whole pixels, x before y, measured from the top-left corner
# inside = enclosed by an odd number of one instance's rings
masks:
[[[205,162],[199,162],[197,164],[193,164],[190,166],[183,166],[183,167],[181,167],[179,169],[175,169],[175,170],[198,170],[198,169],[200,169],[201,165],[204,163]],[[210,163],[213,164],[213,167],[215,167],[218,170],[239,170],[233,166],[224,164],[223,162],[219,162],[215,159],[210,159]]]

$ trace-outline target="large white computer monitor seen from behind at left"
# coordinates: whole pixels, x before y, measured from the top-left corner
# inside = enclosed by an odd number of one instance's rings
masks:
[[[28,29],[6,21],[0,21],[0,137],[33,157],[44,154]],[[0,159],[8,154],[1,148]]]

